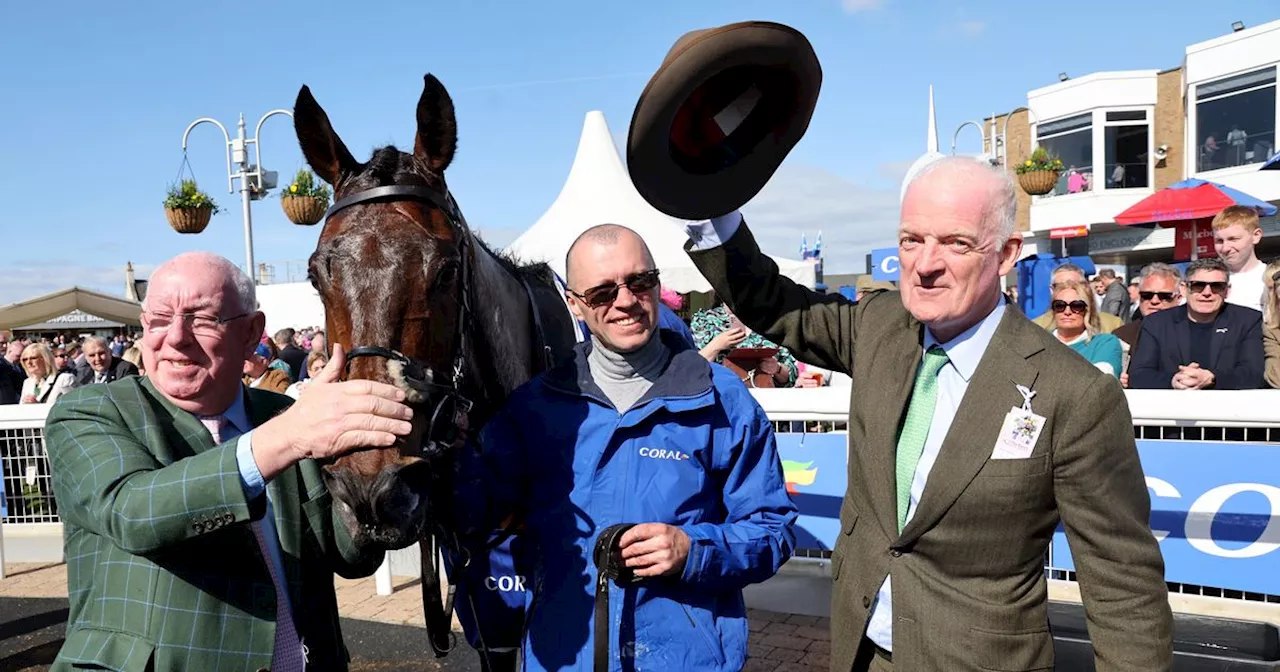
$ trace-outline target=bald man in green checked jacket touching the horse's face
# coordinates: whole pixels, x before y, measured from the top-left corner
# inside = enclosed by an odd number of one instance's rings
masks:
[[[248,389],[262,333],[230,261],[160,266],[143,306],[148,378],[59,399],[46,440],[70,617],[54,669],[347,669],[334,573],[371,575],[315,460],[410,430],[394,387],[338,383],[340,348],[300,401]]]

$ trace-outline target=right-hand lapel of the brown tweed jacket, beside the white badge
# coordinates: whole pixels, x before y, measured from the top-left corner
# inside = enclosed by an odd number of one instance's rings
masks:
[[[1044,348],[1028,333],[1029,329],[1037,326],[1018,311],[1005,311],[973,379],[969,380],[960,408],[942,442],[938,460],[929,472],[915,516],[902,529],[895,548],[909,547],[937,525],[987,463],[1005,413],[1011,407],[1021,406],[1023,397],[1018,385],[1036,389],[1039,371],[1027,360]]]

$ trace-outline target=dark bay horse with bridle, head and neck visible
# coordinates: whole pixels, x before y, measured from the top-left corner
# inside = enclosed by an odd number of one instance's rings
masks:
[[[457,122],[435,77],[424,78],[412,154],[387,146],[356,161],[306,86],[293,119],[334,189],[307,266],[329,342],[347,351],[347,379],[397,385],[415,411],[408,436],[332,461],[325,480],[356,544],[421,541],[428,630],[443,655],[452,637],[435,552],[454,532],[458,451],[515,388],[570,355],[576,324],[545,264],[495,253],[467,227],[444,180]]]

